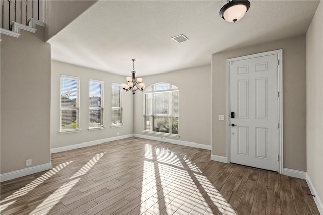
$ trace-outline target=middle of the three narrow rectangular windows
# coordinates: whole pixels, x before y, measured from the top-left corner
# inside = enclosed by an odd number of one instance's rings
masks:
[[[90,122],[91,128],[102,128],[103,125],[103,110],[104,110],[104,82],[90,80],[89,82],[89,107],[90,107]]]

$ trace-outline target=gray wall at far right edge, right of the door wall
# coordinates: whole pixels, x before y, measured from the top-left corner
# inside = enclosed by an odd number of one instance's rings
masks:
[[[323,1],[306,34],[307,174],[323,200]],[[323,205],[320,205],[323,211]]]

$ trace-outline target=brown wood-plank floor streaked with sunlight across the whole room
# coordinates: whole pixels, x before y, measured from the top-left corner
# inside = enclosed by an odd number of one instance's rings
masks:
[[[319,214],[305,180],[128,138],[51,155],[1,183],[1,214]]]

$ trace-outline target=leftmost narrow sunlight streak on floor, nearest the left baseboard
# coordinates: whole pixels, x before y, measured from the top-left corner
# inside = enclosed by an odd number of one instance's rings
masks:
[[[27,184],[24,187],[20,188],[18,191],[14,192],[10,196],[6,197],[4,200],[1,200],[0,201],[0,205],[1,205],[0,212],[3,211],[3,210],[5,210],[11,204],[15,203],[17,200],[14,200],[14,199],[26,195],[31,190],[35,189],[39,184],[43,183],[45,180],[47,180],[51,176],[53,176],[56,173],[58,173],[64,167],[66,167],[67,165],[69,165],[72,162],[73,161],[65,162],[63,164],[60,164],[60,165],[52,168],[51,170],[49,170],[45,174],[41,175],[40,177],[38,177],[37,179],[33,180],[29,184]],[[8,202],[8,201],[10,201],[10,202]]]

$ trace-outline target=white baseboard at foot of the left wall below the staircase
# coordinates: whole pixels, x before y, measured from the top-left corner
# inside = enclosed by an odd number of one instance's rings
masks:
[[[21,170],[16,170],[8,173],[0,174],[0,182],[8,181],[14,178],[23,177],[37,172],[51,169],[51,163],[41,164],[34,167],[28,167]]]

